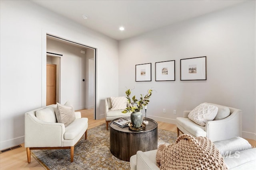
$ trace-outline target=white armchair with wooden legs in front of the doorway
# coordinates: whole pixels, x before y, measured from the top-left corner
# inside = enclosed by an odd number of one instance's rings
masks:
[[[28,163],[34,149],[70,149],[70,162],[73,162],[74,146],[84,134],[87,138],[88,118],[81,118],[81,113],[75,112],[76,119],[65,127],[64,123],[56,121],[56,107],[53,104],[25,113]],[[36,111],[40,111],[40,118],[39,115],[36,117]]]

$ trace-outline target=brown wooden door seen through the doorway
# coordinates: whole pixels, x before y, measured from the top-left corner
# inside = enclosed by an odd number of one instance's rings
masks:
[[[46,64],[46,106],[56,104],[56,65]]]

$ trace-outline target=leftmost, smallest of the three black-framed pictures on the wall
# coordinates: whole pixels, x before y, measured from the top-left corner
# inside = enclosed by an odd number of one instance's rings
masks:
[[[150,82],[151,81],[151,63],[135,65],[135,81]]]

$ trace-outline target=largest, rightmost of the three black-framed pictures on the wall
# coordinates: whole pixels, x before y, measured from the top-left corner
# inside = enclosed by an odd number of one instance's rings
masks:
[[[206,80],[206,56],[180,59],[180,80]]]

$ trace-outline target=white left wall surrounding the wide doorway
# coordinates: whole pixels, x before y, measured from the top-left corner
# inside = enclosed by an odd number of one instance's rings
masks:
[[[46,33],[97,49],[96,117],[104,115],[104,98],[118,95],[116,40],[30,1],[0,1],[0,25],[1,150],[24,142],[24,113],[42,106]]]

